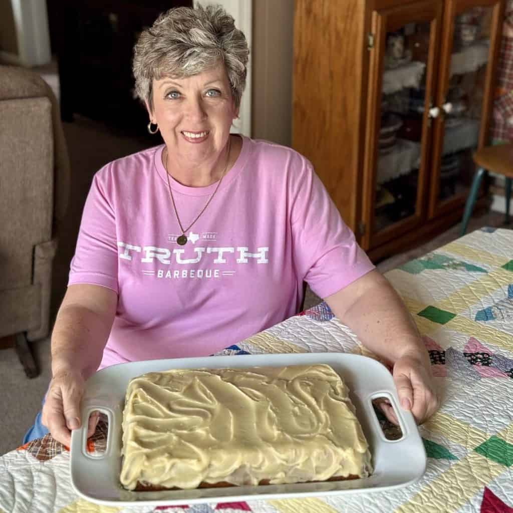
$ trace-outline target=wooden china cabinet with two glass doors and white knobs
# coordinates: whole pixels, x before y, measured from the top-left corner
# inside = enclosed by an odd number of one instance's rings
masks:
[[[296,0],[292,147],[371,259],[461,219],[472,152],[487,144],[504,4]]]

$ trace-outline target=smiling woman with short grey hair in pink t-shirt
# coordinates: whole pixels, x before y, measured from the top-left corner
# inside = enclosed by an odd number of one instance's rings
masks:
[[[165,144],[94,177],[52,334],[42,421],[58,441],[98,368],[211,354],[297,312],[303,281],[393,364],[418,422],[438,406],[415,325],[310,163],[230,135],[247,60],[220,7],[171,9],[135,46],[136,92]]]

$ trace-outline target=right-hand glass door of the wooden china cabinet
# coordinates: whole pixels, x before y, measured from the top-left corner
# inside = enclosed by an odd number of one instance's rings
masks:
[[[463,204],[475,172],[472,153],[487,144],[500,5],[486,0],[471,4],[460,0],[446,9],[430,217]]]

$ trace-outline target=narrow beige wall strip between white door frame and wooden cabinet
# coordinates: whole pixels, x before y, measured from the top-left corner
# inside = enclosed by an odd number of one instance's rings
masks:
[[[290,146],[294,0],[253,2],[251,135]]]

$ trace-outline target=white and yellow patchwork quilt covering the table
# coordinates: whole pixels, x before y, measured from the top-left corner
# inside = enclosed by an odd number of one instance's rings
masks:
[[[47,435],[0,458],[0,512],[513,513],[513,231],[475,231],[386,276],[415,318],[442,399],[420,427],[428,465],[416,484],[368,495],[106,507],[74,493],[69,452]],[[325,303],[221,354],[308,351],[368,354]],[[100,425],[91,450],[104,434]]]

